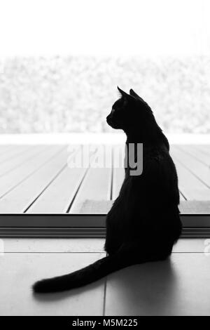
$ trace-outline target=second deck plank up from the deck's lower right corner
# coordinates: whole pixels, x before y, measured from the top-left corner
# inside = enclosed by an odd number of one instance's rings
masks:
[[[186,154],[175,145],[172,146],[173,154],[191,173],[199,178],[204,185],[210,187],[210,169],[208,166],[202,164],[190,154]]]

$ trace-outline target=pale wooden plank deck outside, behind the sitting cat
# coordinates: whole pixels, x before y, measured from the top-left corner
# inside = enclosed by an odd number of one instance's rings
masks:
[[[179,176],[181,212],[209,214],[210,146],[172,145],[171,155]],[[9,226],[11,215],[37,220],[40,214],[50,214],[53,223],[55,215],[106,214],[124,176],[123,168],[113,167],[114,147],[106,168],[72,169],[67,165],[69,157],[66,145],[1,145],[0,226]],[[62,219],[66,217],[59,218],[61,227],[66,227]]]

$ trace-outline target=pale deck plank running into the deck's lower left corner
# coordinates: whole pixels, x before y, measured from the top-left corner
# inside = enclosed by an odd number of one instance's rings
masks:
[[[62,170],[66,166],[67,157],[67,148],[65,148],[59,154],[55,154],[54,157],[29,176],[29,178],[20,183],[20,185],[8,192],[8,194],[0,199],[0,212],[22,213],[29,208],[36,198],[41,199],[39,195],[41,195],[43,190],[53,182],[59,173],[62,173]],[[59,190],[58,193],[62,195],[62,190]],[[57,200],[55,198],[50,200],[51,205],[56,204],[56,202]],[[50,213],[50,204],[45,205],[45,212],[43,213]],[[31,209],[27,210],[27,212],[31,212]]]

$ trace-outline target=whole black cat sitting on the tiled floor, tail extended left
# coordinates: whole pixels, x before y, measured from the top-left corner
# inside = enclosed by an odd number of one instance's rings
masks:
[[[179,189],[176,168],[169,155],[169,143],[155,121],[151,107],[132,89],[120,88],[107,123],[123,129],[127,149],[143,143],[143,172],[132,176],[125,169],[120,194],[106,217],[105,250],[108,256],[71,274],[43,279],[35,292],[55,292],[90,284],[129,265],[164,260],[181,235]]]

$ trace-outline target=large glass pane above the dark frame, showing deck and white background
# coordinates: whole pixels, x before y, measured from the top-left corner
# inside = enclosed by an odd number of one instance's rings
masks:
[[[4,1],[0,213],[109,209],[123,169],[70,171],[64,145],[124,142],[106,124],[116,86],[134,88],[169,138],[181,211],[209,213],[209,10],[208,0]]]

